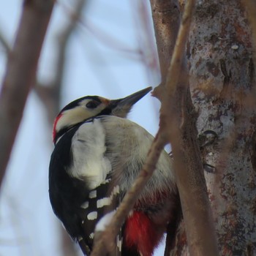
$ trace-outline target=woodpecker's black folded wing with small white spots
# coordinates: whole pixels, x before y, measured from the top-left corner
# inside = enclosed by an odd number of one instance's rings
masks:
[[[78,129],[70,129],[56,143],[50,159],[49,196],[56,216],[69,235],[79,242],[83,252],[89,255],[94,228],[99,219],[118,206],[119,190],[111,184],[111,173],[99,187],[89,190],[86,181],[67,172],[72,165],[72,138]]]

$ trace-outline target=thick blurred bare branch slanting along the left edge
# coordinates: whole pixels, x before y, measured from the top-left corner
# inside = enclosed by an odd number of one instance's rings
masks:
[[[37,62],[53,1],[24,1],[15,45],[9,55],[0,98],[0,184],[4,177],[26,98],[34,84]]]

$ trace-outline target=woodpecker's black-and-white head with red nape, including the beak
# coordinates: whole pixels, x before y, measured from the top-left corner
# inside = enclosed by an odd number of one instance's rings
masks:
[[[53,124],[53,143],[64,135],[71,127],[86,119],[101,115],[127,117],[129,110],[138,100],[145,96],[151,87],[135,92],[122,99],[105,99],[99,96],[86,96],[70,102],[56,117]]]

